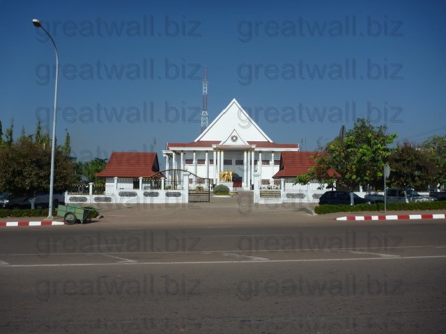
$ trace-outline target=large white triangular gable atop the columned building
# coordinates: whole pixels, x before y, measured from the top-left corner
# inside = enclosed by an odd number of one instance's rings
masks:
[[[243,110],[236,99],[233,99],[226,106],[220,115],[206,127],[195,141],[221,141],[222,138],[226,138],[228,129],[231,128],[243,137],[245,143],[249,141],[272,143],[272,140],[262,131],[248,113]]]

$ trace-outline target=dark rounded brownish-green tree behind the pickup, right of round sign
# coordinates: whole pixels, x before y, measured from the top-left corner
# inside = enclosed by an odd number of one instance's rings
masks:
[[[427,150],[414,147],[414,144],[404,142],[390,154],[390,186],[426,190],[429,184],[435,182],[438,173],[436,161]]]

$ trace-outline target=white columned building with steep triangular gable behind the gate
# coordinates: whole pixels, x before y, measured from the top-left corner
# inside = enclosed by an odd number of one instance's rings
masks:
[[[273,142],[233,99],[192,143],[168,143],[162,151],[166,170],[188,170],[220,183],[220,172],[233,170],[233,186],[251,189],[254,173],[272,184],[282,152],[298,152],[298,144]],[[167,173],[167,180],[174,175]]]

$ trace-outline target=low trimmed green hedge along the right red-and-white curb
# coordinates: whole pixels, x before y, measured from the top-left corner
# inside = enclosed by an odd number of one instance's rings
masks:
[[[435,200],[433,202],[413,203],[387,203],[388,211],[405,210],[441,210],[446,209],[446,200]],[[316,214],[331,214],[333,212],[366,212],[384,211],[384,203],[357,204],[357,205],[318,205],[314,208]]]

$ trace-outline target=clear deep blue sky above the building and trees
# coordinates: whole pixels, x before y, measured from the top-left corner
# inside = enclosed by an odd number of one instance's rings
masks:
[[[446,134],[445,1],[0,1],[0,120],[70,134],[79,161],[157,152],[236,98],[277,143],[316,150],[357,118]]]

